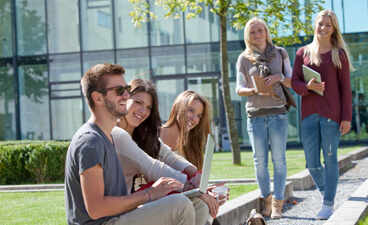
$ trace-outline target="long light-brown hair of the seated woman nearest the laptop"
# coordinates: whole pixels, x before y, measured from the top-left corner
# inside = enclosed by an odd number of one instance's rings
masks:
[[[186,115],[189,105],[194,100],[199,100],[203,104],[203,113],[197,126],[188,132],[185,125]],[[180,135],[176,149],[199,170],[203,166],[203,149],[210,133],[211,111],[211,104],[207,98],[194,91],[184,91],[175,99],[169,119],[164,124],[164,127],[177,125]]]

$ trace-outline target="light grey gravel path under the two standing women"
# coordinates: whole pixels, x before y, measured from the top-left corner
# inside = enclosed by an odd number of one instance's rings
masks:
[[[366,179],[368,179],[368,157],[352,161],[349,170],[340,171],[335,197],[335,211]],[[278,220],[266,218],[267,224],[321,225],[326,222],[326,220],[315,219],[322,207],[322,196],[316,188],[307,191],[293,191],[293,195],[294,197],[290,198],[283,207],[283,218]],[[292,204],[294,200],[298,203]]]

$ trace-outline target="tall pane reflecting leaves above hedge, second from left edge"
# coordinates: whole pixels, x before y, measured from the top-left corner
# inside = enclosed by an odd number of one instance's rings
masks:
[[[19,67],[21,139],[50,139],[46,64]]]

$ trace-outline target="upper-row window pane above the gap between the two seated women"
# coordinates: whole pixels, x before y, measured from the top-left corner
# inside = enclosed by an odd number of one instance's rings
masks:
[[[151,1],[151,10],[161,19],[151,20],[151,45],[177,45],[184,43],[183,17],[163,19],[164,10]]]

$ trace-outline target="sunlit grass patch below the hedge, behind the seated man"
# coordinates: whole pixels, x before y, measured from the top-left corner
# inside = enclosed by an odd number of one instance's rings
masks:
[[[0,193],[0,224],[66,224],[64,192]]]

